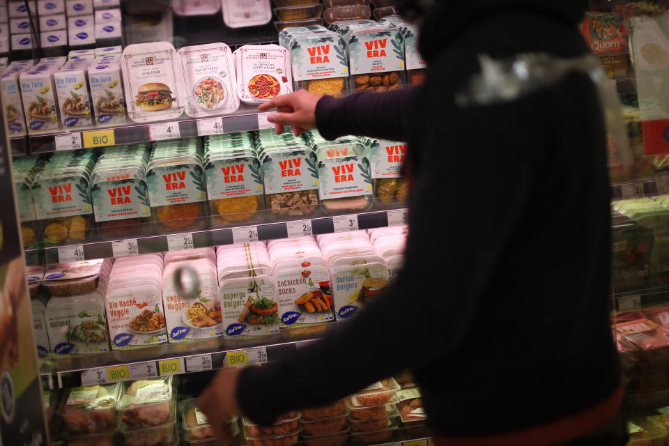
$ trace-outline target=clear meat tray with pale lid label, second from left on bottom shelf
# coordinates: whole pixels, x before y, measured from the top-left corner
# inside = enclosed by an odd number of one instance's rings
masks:
[[[121,417],[118,430],[128,432],[174,424],[175,400],[171,375],[126,381],[116,402],[116,410]]]

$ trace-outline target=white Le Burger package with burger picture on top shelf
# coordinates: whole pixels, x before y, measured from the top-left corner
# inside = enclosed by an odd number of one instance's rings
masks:
[[[185,107],[183,70],[169,42],[123,49],[123,89],[128,116],[137,123],[176,119]]]

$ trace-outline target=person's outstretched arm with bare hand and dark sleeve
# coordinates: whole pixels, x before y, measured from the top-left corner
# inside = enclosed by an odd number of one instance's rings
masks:
[[[343,98],[321,97],[300,90],[278,96],[258,108],[261,112],[277,108],[278,113],[268,118],[277,126],[277,133],[284,125],[293,125],[295,135],[305,129],[318,128],[325,139],[356,134],[406,141],[410,119],[407,110],[419,88],[409,86],[383,93],[355,93]]]

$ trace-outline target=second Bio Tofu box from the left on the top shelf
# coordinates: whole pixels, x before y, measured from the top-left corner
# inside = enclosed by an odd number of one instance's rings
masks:
[[[22,72],[19,79],[28,131],[58,128],[56,88],[52,72],[55,66],[38,65]]]

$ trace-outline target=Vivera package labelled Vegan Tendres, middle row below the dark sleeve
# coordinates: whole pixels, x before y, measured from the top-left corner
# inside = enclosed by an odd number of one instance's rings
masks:
[[[373,183],[367,151],[359,142],[318,146],[318,185],[326,215],[368,210]]]

